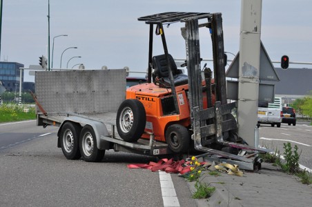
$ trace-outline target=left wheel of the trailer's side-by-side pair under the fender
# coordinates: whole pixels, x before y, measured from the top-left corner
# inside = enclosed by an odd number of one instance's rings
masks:
[[[61,150],[67,159],[79,159],[79,135],[81,127],[78,124],[66,122],[61,128]]]

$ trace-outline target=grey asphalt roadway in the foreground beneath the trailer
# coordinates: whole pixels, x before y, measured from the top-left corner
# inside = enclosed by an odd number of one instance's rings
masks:
[[[0,206],[164,206],[159,172],[128,169],[154,157],[106,151],[104,161],[68,160],[57,128],[35,121],[0,124]],[[186,182],[171,175],[180,206],[196,206]]]

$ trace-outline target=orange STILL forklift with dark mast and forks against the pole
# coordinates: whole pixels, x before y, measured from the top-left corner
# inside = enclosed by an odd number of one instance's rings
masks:
[[[117,111],[116,126],[124,141],[149,139],[168,144],[173,154],[199,150],[251,162],[237,155],[238,149],[261,151],[237,135],[231,114],[236,103],[226,100],[226,77],[222,15],[220,13],[165,12],[140,17],[150,26],[148,81],[126,90],[126,100]],[[167,47],[164,26],[183,23],[187,75],[179,70]],[[201,68],[199,28],[211,36],[213,71]],[[155,34],[154,34],[155,32]],[[153,54],[154,36],[162,39],[163,54]],[[206,37],[208,37],[206,35]]]

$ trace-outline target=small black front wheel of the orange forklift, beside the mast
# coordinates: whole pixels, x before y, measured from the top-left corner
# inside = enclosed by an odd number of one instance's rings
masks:
[[[190,133],[185,126],[173,124],[166,130],[166,141],[175,153],[186,152],[190,146]]]

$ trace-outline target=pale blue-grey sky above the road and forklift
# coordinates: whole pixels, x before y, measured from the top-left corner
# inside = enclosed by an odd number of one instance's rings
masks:
[[[290,61],[312,62],[311,8],[310,0],[262,1],[261,40],[272,61],[288,55]],[[144,72],[149,27],[137,18],[160,12],[221,12],[224,50],[236,54],[240,49],[240,0],[50,0],[50,66],[60,68],[62,61],[61,68],[84,63],[86,69],[127,66],[130,71]],[[3,0],[0,60],[28,68],[38,65],[41,55],[48,57],[47,16],[48,0]],[[168,51],[174,58],[186,57],[181,26],[165,28]],[[61,34],[68,36],[56,37]],[[202,58],[211,59],[211,45],[200,38]],[[155,55],[164,53],[160,46],[160,42],[155,46]],[[70,47],[77,49],[66,50]],[[228,59],[233,58],[228,54]],[[24,81],[34,80],[26,72]]]

